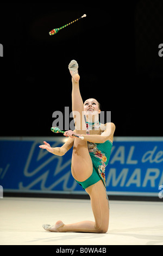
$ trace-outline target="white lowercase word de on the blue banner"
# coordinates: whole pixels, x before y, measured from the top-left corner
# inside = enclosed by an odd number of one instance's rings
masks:
[[[158,147],[155,146],[153,150],[147,151],[142,157],[142,163],[145,163],[147,161],[149,161],[150,163],[161,163],[163,161],[163,151],[159,151],[155,155],[157,148]]]

